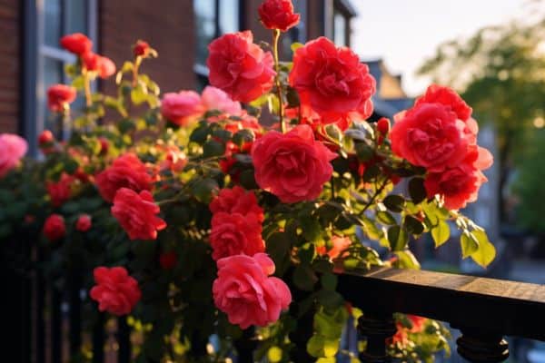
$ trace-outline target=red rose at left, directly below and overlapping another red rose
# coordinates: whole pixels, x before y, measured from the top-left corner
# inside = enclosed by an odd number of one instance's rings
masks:
[[[115,193],[112,214],[131,240],[155,240],[157,231],[166,227],[166,223],[156,216],[160,211],[149,191],[138,194],[121,188]]]

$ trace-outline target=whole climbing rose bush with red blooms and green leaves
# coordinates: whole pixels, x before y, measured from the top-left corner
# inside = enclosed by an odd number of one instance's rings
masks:
[[[70,137],[40,134],[36,161],[22,159],[24,140],[0,135],[0,237],[35,241],[52,286],[82,276],[85,319],[129,315],[142,361],[225,361],[248,334],[256,359],[289,361],[304,338],[314,358],[356,361],[341,334],[365,312],[336,291],[343,270],[418,269],[409,242],[431,235],[440,247],[451,226],[464,258],[494,258],[460,211],[492,162],[471,107],[434,84],[393,125],[373,122],[375,80],[352,50],[320,37],[281,62],[279,39],[299,15],[287,0],[259,13],[272,44],[250,31],[214,40],[202,93],[161,96],[141,72],[157,55],[143,40],[116,70],[84,34],[66,35],[72,83],[51,86],[47,104]],[[97,78],[118,92],[92,93]],[[440,323],[396,322],[392,355],[448,349]]]

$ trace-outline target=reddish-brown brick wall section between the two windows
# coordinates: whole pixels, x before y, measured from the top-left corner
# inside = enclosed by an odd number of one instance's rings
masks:
[[[162,93],[195,87],[193,0],[101,0],[98,14],[100,52],[115,64],[130,59],[131,45],[144,39],[159,58],[144,62],[142,72]],[[104,83],[104,92],[113,90],[112,83]]]

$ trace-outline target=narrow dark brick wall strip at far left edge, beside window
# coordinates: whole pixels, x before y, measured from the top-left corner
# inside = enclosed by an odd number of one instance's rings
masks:
[[[19,126],[20,19],[19,1],[0,0],[0,132]]]

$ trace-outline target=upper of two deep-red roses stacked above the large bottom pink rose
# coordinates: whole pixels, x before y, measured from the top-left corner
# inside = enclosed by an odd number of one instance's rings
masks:
[[[239,186],[222,189],[210,203],[210,211],[214,214],[222,211],[242,215],[253,213],[258,221],[263,221],[263,209],[257,204],[253,191],[245,191]]]

